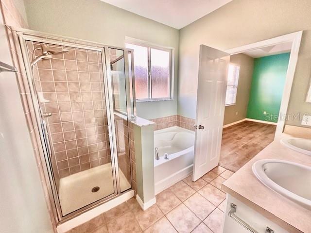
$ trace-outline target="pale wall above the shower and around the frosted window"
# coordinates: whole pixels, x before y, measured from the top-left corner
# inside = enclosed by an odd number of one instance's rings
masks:
[[[125,36],[175,48],[174,100],[138,102],[138,116],[176,115],[179,31],[100,0],[25,0],[30,29],[125,46]]]

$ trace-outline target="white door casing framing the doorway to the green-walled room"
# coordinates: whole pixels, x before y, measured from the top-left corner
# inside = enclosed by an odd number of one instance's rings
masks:
[[[292,84],[294,80],[294,72],[296,69],[296,63],[298,59],[301,36],[302,36],[302,31],[299,31],[299,32],[285,34],[285,35],[277,36],[271,39],[259,41],[256,43],[240,46],[237,48],[225,50],[225,52],[233,55],[233,54],[245,52],[247,50],[254,50],[254,49],[258,49],[258,48],[265,47],[265,46],[271,46],[271,45],[276,45],[282,42],[292,41],[293,43],[292,50],[291,50],[290,60],[289,60],[288,69],[286,73],[284,91],[283,91],[283,96],[282,96],[282,101],[281,101],[281,106],[280,106],[280,111],[279,111],[279,119],[276,125],[275,139],[279,138],[281,134],[283,133],[283,129],[285,125],[285,118],[286,118],[285,116],[287,114],[287,108],[288,108]]]

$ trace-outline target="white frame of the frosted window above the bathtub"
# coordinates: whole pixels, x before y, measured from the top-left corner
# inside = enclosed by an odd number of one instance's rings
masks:
[[[132,37],[125,36],[125,44],[133,44],[137,46],[147,47],[148,50],[148,98],[146,99],[137,99],[137,102],[147,102],[147,101],[161,101],[161,100],[173,100],[173,92],[174,92],[174,48],[167,47],[167,46],[160,46],[154,43],[150,43],[144,40],[135,39]],[[125,45],[124,45],[125,46]],[[126,48],[126,46],[125,46]],[[165,98],[151,98],[151,49],[163,50],[170,53],[170,80],[169,80],[169,96]],[[134,51],[135,52],[135,51]],[[134,60],[134,67],[135,67],[135,60]]]

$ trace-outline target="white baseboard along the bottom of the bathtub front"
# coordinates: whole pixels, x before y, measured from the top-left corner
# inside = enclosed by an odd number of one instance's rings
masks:
[[[173,184],[185,179],[186,177],[190,176],[192,173],[193,164],[190,166],[185,167],[178,172],[173,173],[166,179],[161,180],[160,182],[155,183],[155,195],[162,192],[163,190],[171,187]]]

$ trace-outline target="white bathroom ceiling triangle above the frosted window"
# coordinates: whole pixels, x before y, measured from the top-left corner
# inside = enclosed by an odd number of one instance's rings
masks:
[[[101,0],[139,16],[181,29],[231,0]]]

